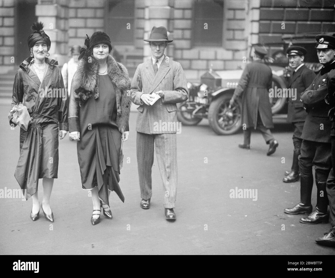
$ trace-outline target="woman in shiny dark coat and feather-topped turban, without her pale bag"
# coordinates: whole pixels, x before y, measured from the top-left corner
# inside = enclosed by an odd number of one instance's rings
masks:
[[[40,202],[38,182],[43,178],[42,210],[44,216],[54,221],[49,200],[54,178],[58,174],[58,136],[63,139],[68,130],[67,109],[63,78],[57,61],[49,56],[50,39],[43,31],[43,23],[35,22],[34,31],[28,38],[30,57],[25,59],[16,72],[12,107],[19,102],[27,107],[32,119],[27,131],[20,128],[20,158],[15,178],[26,198],[32,197],[30,218],[39,218]],[[13,114],[9,114],[12,126]]]

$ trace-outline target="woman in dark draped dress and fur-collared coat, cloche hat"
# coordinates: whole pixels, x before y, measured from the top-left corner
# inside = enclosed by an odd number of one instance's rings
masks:
[[[130,80],[127,69],[109,55],[112,45],[105,32],[93,33],[85,45],[87,49],[82,49],[79,59],[83,58],[72,79],[69,130],[78,141],[82,188],[91,190],[91,224],[95,225],[100,222],[100,208],[112,218],[110,191],[124,202],[119,186],[119,156],[121,142],[129,135]]]

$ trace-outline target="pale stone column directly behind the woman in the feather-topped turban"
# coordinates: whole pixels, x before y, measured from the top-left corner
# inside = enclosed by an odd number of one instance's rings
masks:
[[[39,0],[36,16],[44,23],[44,31],[50,37],[50,58],[58,61],[59,66],[67,62],[68,49],[68,1]]]

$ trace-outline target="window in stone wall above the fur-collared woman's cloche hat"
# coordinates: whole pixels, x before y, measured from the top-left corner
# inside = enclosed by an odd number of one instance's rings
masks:
[[[134,0],[109,0],[107,4],[106,33],[112,44],[134,42]]]

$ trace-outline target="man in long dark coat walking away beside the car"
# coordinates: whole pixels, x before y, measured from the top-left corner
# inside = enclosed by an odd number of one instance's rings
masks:
[[[261,131],[266,144],[270,144],[267,155],[276,151],[278,142],[272,136],[269,128],[273,128],[272,111],[269,101],[269,89],[272,86],[271,68],[264,64],[263,58],[267,54],[265,48],[255,46],[252,54],[253,62],[244,69],[239,84],[230,100],[233,105],[235,99],[242,96],[242,124],[244,143],[239,147],[250,149],[251,129]]]

